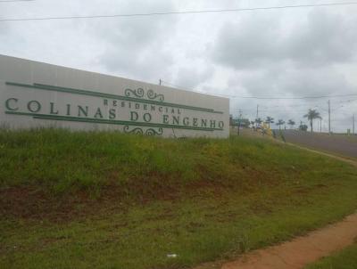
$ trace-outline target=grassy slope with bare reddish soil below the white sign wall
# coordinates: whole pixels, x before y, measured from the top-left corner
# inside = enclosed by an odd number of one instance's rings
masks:
[[[258,138],[3,130],[0,202],[0,268],[186,268],[352,213],[357,171]]]

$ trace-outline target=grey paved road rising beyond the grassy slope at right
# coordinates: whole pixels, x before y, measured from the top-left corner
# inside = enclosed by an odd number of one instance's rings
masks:
[[[284,131],[287,143],[295,143],[318,151],[327,151],[357,159],[357,136],[312,134],[293,130]]]

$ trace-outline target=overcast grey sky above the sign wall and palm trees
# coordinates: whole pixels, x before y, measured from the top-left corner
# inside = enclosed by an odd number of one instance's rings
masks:
[[[0,3],[0,19],[328,4],[343,0],[37,0]],[[245,118],[306,121],[357,94],[357,4],[93,20],[0,22],[0,53],[230,97]],[[170,84],[170,85],[169,85]],[[357,95],[331,98],[332,129],[352,128]],[[317,123],[316,126],[318,127]]]

